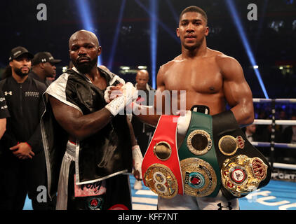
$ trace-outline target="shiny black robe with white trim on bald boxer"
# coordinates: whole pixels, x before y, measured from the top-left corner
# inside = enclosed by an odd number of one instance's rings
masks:
[[[114,73],[98,69],[101,75],[106,78],[107,85],[119,83]],[[48,102],[48,94],[81,111],[83,115],[103,109],[106,102],[104,90],[93,85],[86,76],[75,68],[63,73],[43,94],[46,111],[41,118],[41,132],[46,153],[48,192],[51,196],[57,192],[68,134],[55,120],[51,104]],[[76,141],[75,165],[76,184],[93,183],[119,174],[130,173],[133,159],[126,116],[117,115],[99,132],[93,133],[82,141]],[[112,188],[116,188],[114,190],[122,194],[123,187],[117,184]],[[129,186],[124,188],[129,190]]]

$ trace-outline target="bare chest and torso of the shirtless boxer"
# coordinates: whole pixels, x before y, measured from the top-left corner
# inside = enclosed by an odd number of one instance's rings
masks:
[[[186,109],[194,105],[206,105],[210,114],[214,115],[225,110],[223,77],[218,55],[215,50],[207,50],[203,57],[182,59],[179,55],[173,61],[162,66],[161,90],[186,90]],[[178,108],[180,108],[180,93],[178,93]]]

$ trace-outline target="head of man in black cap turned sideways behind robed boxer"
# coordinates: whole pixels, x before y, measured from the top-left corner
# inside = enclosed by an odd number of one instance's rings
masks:
[[[60,59],[54,59],[50,52],[38,52],[32,59],[32,71],[29,73],[29,76],[39,80],[48,87],[48,85],[51,85],[51,80],[48,80],[48,78],[55,77],[55,64],[58,64],[60,61]]]

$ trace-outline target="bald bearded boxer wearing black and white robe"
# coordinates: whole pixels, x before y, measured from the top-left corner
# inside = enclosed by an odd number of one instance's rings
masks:
[[[92,32],[74,33],[69,38],[74,67],[44,95],[49,101],[42,118],[43,145],[50,195],[58,190],[57,209],[131,209],[128,176],[123,174],[134,165],[140,179],[141,161],[135,158],[140,148],[127,117],[120,114],[132,96],[105,102],[109,85],[125,83],[97,66],[101,50]]]

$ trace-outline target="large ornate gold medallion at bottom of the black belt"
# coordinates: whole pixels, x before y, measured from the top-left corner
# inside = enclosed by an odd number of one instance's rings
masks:
[[[260,158],[237,155],[224,161],[221,169],[224,188],[236,196],[256,190],[267,176],[267,165]]]

